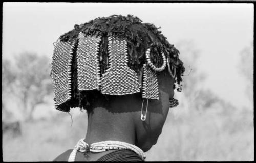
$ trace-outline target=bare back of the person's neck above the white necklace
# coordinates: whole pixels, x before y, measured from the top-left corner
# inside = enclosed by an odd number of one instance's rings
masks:
[[[96,107],[88,116],[85,142],[121,141],[135,145],[135,125],[132,113],[112,113]]]

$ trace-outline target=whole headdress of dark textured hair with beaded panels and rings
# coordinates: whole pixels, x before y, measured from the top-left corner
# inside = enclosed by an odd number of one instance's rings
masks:
[[[142,84],[139,83],[142,68]],[[139,93],[159,99],[157,72],[180,86],[185,71],[179,51],[155,25],[132,15],[96,18],[60,36],[54,44],[51,76],[58,110],[87,108],[90,91],[108,95]],[[180,91],[178,87],[177,91]],[[177,101],[172,103],[172,106]]]

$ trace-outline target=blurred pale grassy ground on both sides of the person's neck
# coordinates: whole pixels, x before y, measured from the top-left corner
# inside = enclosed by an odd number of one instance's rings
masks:
[[[182,109],[182,108],[179,108]],[[22,123],[22,135],[3,135],[4,161],[51,161],[86,135],[86,113],[59,113]],[[179,117],[170,111],[147,161],[252,161],[253,111],[208,109]]]

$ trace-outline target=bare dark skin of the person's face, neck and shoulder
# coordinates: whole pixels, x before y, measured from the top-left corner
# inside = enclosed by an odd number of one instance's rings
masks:
[[[145,121],[140,119],[143,100],[141,93],[110,96],[108,104],[104,104],[99,99],[95,103],[93,111],[88,113],[88,128],[84,141],[88,144],[107,140],[122,141],[136,145],[144,152],[150,150],[162,132],[169,111],[169,99],[174,96],[174,79],[168,72],[158,72],[157,78],[159,100],[148,100]],[[142,73],[139,80],[141,83]],[[146,100],[144,100],[143,110],[145,111],[145,109]],[[71,151],[62,153],[55,161],[67,161]],[[112,151],[89,153],[87,160],[96,161]],[[79,158],[76,159],[83,159],[80,152],[77,157]]]

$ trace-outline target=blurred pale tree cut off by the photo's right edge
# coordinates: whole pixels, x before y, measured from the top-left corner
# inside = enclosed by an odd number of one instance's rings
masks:
[[[241,50],[238,69],[247,80],[246,95],[253,100],[253,42]]]

